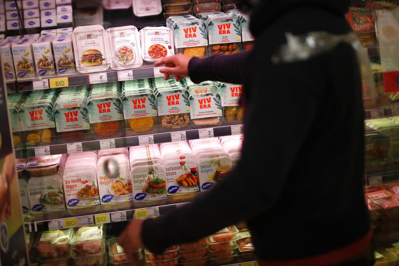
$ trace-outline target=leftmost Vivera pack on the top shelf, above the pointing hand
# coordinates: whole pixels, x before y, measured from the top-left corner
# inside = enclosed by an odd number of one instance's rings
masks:
[[[171,29],[176,53],[202,58],[208,52],[206,26],[200,19],[178,20]]]

